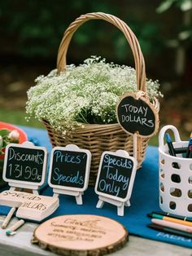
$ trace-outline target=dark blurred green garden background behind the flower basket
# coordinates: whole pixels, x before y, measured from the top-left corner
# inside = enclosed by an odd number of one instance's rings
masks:
[[[146,76],[158,79],[160,126],[172,124],[187,139],[192,131],[192,0],[7,0],[0,2],[0,121],[42,127],[25,121],[26,91],[34,79],[56,66],[63,32],[81,14],[103,11],[133,29],[146,60]],[[68,64],[89,55],[133,66],[124,35],[111,24],[92,20],[75,33]],[[151,139],[157,144],[157,137]]]

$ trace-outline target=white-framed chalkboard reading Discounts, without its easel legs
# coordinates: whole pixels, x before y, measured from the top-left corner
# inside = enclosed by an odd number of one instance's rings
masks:
[[[46,161],[46,148],[30,142],[10,143],[5,152],[3,179],[9,183],[41,186],[45,181]]]

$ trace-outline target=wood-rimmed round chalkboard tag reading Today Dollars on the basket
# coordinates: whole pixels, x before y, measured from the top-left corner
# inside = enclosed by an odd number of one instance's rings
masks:
[[[120,126],[131,135],[149,137],[158,130],[158,114],[144,97],[136,99],[134,94],[125,94],[117,104],[116,116]]]

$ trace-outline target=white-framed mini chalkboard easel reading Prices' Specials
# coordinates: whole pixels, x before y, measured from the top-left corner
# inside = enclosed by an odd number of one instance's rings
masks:
[[[55,196],[76,196],[76,204],[82,205],[82,194],[89,183],[90,161],[89,150],[78,148],[76,145],[53,148],[48,183]]]

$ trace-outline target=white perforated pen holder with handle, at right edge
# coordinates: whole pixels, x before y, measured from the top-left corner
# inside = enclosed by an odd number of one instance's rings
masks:
[[[192,217],[192,158],[170,156],[164,135],[172,130],[173,148],[184,148],[188,141],[181,141],[175,126],[164,126],[159,132],[159,206],[164,212]]]

